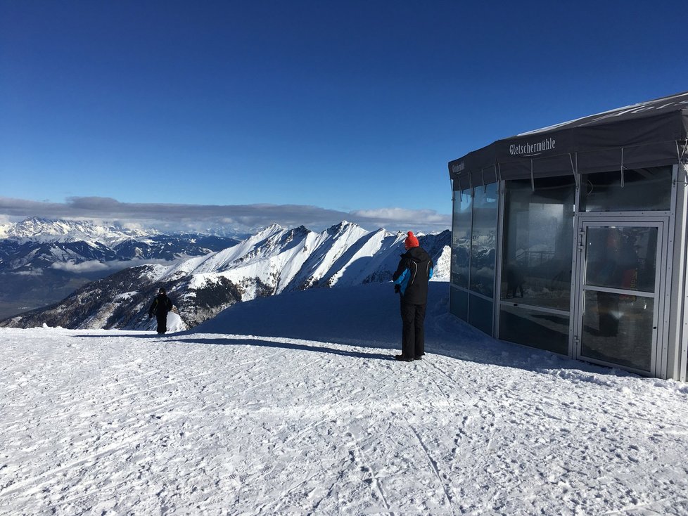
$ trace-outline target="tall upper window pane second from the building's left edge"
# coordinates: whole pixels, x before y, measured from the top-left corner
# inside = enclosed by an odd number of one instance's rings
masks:
[[[497,183],[474,188],[471,234],[471,290],[495,295],[497,255]]]

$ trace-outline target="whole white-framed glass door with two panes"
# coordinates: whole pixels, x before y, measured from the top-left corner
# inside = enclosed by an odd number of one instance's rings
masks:
[[[576,358],[654,374],[663,233],[663,222],[580,221]]]

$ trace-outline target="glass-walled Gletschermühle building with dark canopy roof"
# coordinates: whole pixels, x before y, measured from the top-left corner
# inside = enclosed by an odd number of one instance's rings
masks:
[[[688,92],[450,162],[450,311],[499,339],[686,380]]]

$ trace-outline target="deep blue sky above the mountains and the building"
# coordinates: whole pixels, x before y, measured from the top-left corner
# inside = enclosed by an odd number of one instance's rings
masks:
[[[450,160],[688,90],[684,7],[0,0],[0,216],[449,227]]]

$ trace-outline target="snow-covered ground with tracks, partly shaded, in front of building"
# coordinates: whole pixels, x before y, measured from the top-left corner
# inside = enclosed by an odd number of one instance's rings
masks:
[[[688,515],[688,385],[498,342],[447,297],[414,363],[389,284],[163,338],[0,330],[0,514]]]

